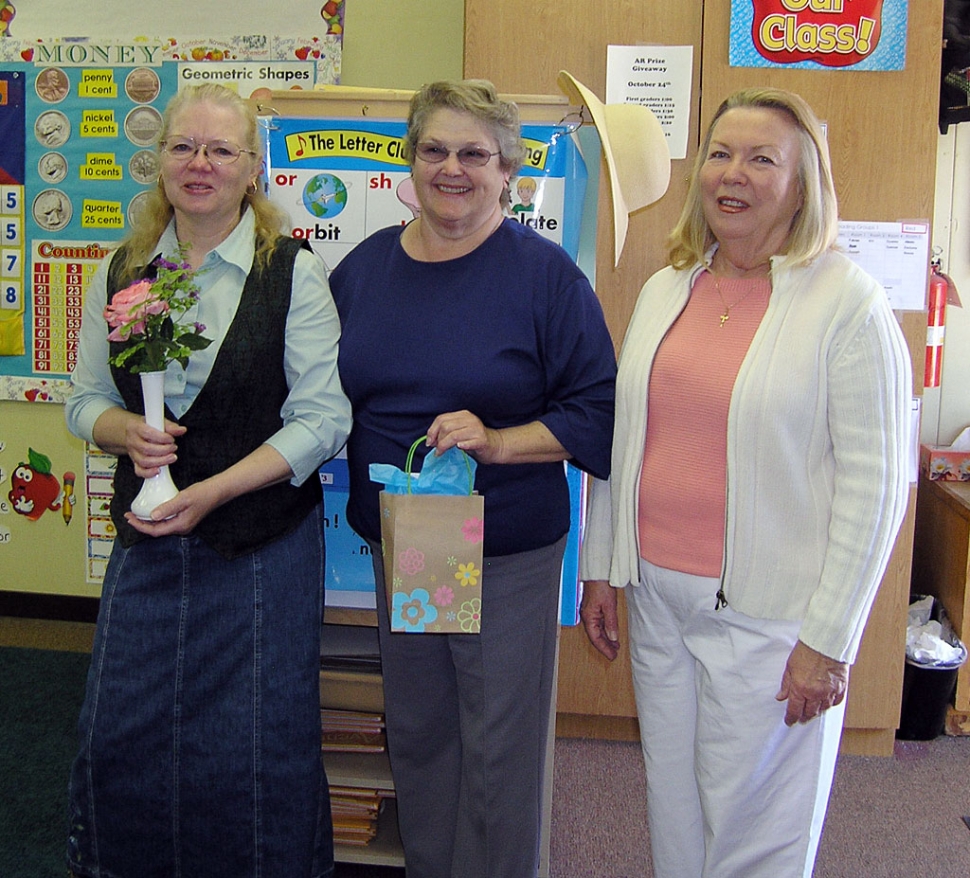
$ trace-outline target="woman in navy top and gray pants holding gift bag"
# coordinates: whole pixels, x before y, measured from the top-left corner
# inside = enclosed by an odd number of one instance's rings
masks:
[[[516,106],[482,80],[412,100],[420,211],[334,269],[354,407],[351,525],[372,545],[388,751],[408,875],[528,878],[538,863],[569,496],[564,460],[609,466],[613,344],[562,248],[506,219],[525,154]],[[485,498],[477,634],[389,628],[371,463],[457,446]],[[415,464],[419,469],[419,464]]]

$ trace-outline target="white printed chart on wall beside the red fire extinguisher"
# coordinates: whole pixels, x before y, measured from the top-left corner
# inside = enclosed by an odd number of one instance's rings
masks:
[[[930,270],[930,223],[839,223],[839,248],[886,289],[895,311],[926,308]]]

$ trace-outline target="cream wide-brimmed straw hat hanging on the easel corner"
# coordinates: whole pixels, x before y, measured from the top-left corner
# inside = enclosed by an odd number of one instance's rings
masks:
[[[653,204],[670,182],[670,150],[657,117],[640,104],[604,104],[571,73],[559,71],[559,87],[576,106],[585,105],[603,144],[613,201],[614,259],[620,261],[629,215]]]

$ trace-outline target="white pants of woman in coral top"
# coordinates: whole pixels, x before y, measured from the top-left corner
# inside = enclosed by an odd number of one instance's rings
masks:
[[[715,610],[716,579],[641,560],[626,590],[655,878],[811,878],[844,702],[789,728],[799,623]]]

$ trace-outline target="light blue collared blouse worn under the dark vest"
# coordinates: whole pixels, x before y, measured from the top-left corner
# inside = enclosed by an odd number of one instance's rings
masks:
[[[165,403],[182,417],[205,384],[222,340],[236,314],[240,293],[255,254],[255,223],[246,211],[229,237],[212,250],[197,273],[201,294],[197,313],[183,320],[205,326],[213,339],[204,351],[195,351],[183,371],[172,363],[165,376]],[[178,252],[175,223],[171,222],[156,250],[174,261]],[[107,301],[109,255],[99,266],[85,293],[78,361],[71,375],[74,390],[66,405],[68,429],[93,442],[94,424],[114,406],[124,407],[108,366],[108,326],[103,317]],[[302,484],[319,465],[332,457],[350,432],[350,403],[337,373],[340,320],[330,296],[323,260],[301,250],[293,270],[293,290],[286,320],[283,366],[289,394],[280,415],[283,427],[267,444],[275,448],[293,470],[293,485]],[[256,403],[257,401],[254,401]]]

